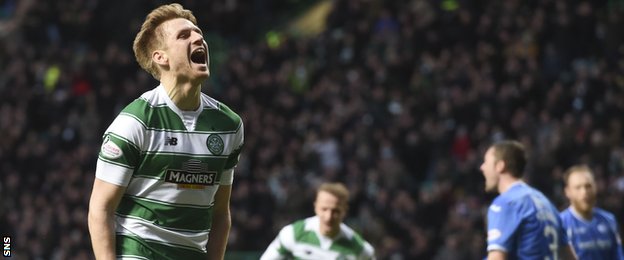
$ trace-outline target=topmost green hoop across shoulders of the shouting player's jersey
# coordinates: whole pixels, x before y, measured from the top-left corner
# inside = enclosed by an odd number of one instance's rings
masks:
[[[121,113],[130,114],[147,129],[186,131],[186,126],[168,106],[152,106],[145,99],[136,99]],[[197,119],[195,132],[236,132],[241,125],[240,117],[225,105],[220,110],[205,108]]]

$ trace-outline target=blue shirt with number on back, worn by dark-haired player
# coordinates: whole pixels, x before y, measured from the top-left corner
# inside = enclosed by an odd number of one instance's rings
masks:
[[[487,251],[508,259],[557,259],[567,245],[559,211],[540,191],[524,182],[498,195],[488,209]]]

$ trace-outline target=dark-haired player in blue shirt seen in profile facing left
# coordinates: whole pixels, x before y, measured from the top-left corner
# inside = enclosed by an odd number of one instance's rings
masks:
[[[521,180],[526,163],[517,141],[495,143],[484,155],[485,190],[500,193],[488,209],[487,259],[576,259],[555,206]]]

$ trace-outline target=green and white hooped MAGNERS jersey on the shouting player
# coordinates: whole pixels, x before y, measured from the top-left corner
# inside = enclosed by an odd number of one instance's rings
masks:
[[[118,258],[205,258],[214,195],[231,185],[241,118],[201,94],[181,111],[162,85],[141,95],[104,134],[96,177],[126,186],[116,211]]]

